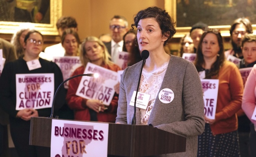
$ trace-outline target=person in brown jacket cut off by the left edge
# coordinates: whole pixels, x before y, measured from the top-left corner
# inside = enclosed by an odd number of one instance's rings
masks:
[[[0,49],[3,51],[3,58],[5,59],[5,64],[9,61],[17,60],[17,55],[14,46],[0,38]],[[1,54],[2,55],[2,54]],[[2,71],[0,72],[0,74]],[[7,156],[8,153],[8,132],[7,124],[9,124],[9,116],[1,108],[0,104],[0,157]]]

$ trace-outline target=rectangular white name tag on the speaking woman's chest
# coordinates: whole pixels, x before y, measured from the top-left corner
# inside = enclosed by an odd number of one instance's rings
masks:
[[[136,91],[133,91],[132,99],[130,102],[131,106],[134,106],[135,96],[136,96]],[[141,109],[146,109],[147,104],[149,103],[149,98],[150,98],[149,94],[138,92],[137,99],[136,99],[136,107],[141,108]]]

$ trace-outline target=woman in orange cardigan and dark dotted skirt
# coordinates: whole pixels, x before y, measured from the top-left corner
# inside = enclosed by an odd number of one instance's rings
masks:
[[[204,133],[198,136],[198,156],[239,156],[236,112],[241,109],[243,81],[238,67],[225,60],[219,30],[205,30],[196,55],[200,77],[219,79],[215,119],[204,117],[206,124]]]

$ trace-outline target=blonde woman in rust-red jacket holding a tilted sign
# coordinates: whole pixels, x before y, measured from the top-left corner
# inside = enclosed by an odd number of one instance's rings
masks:
[[[88,63],[93,63],[115,72],[121,70],[120,67],[109,60],[109,57],[110,55],[107,52],[107,48],[100,39],[94,36],[87,37],[81,44],[80,59],[83,65],[78,67],[72,76],[83,74]],[[103,80],[106,78],[103,78],[103,76],[100,77],[99,80],[102,80],[100,84],[103,84]],[[105,75],[104,77],[109,76]],[[104,105],[103,102],[98,99],[84,99],[76,94],[80,81],[81,77],[69,80],[69,88],[66,97],[69,107],[74,110],[75,120],[114,123],[117,117],[118,95],[116,93],[114,94],[109,106]],[[88,87],[95,85],[95,82],[92,81],[88,84]],[[89,93],[86,92],[86,94]]]

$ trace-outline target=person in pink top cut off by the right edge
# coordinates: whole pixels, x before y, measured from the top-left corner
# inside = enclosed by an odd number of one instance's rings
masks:
[[[254,64],[253,69],[247,78],[244,87],[244,95],[242,98],[242,109],[244,110],[247,117],[251,120],[251,132],[249,137],[251,156],[256,156],[256,120],[252,120],[253,111],[255,109],[256,102],[256,64]]]

